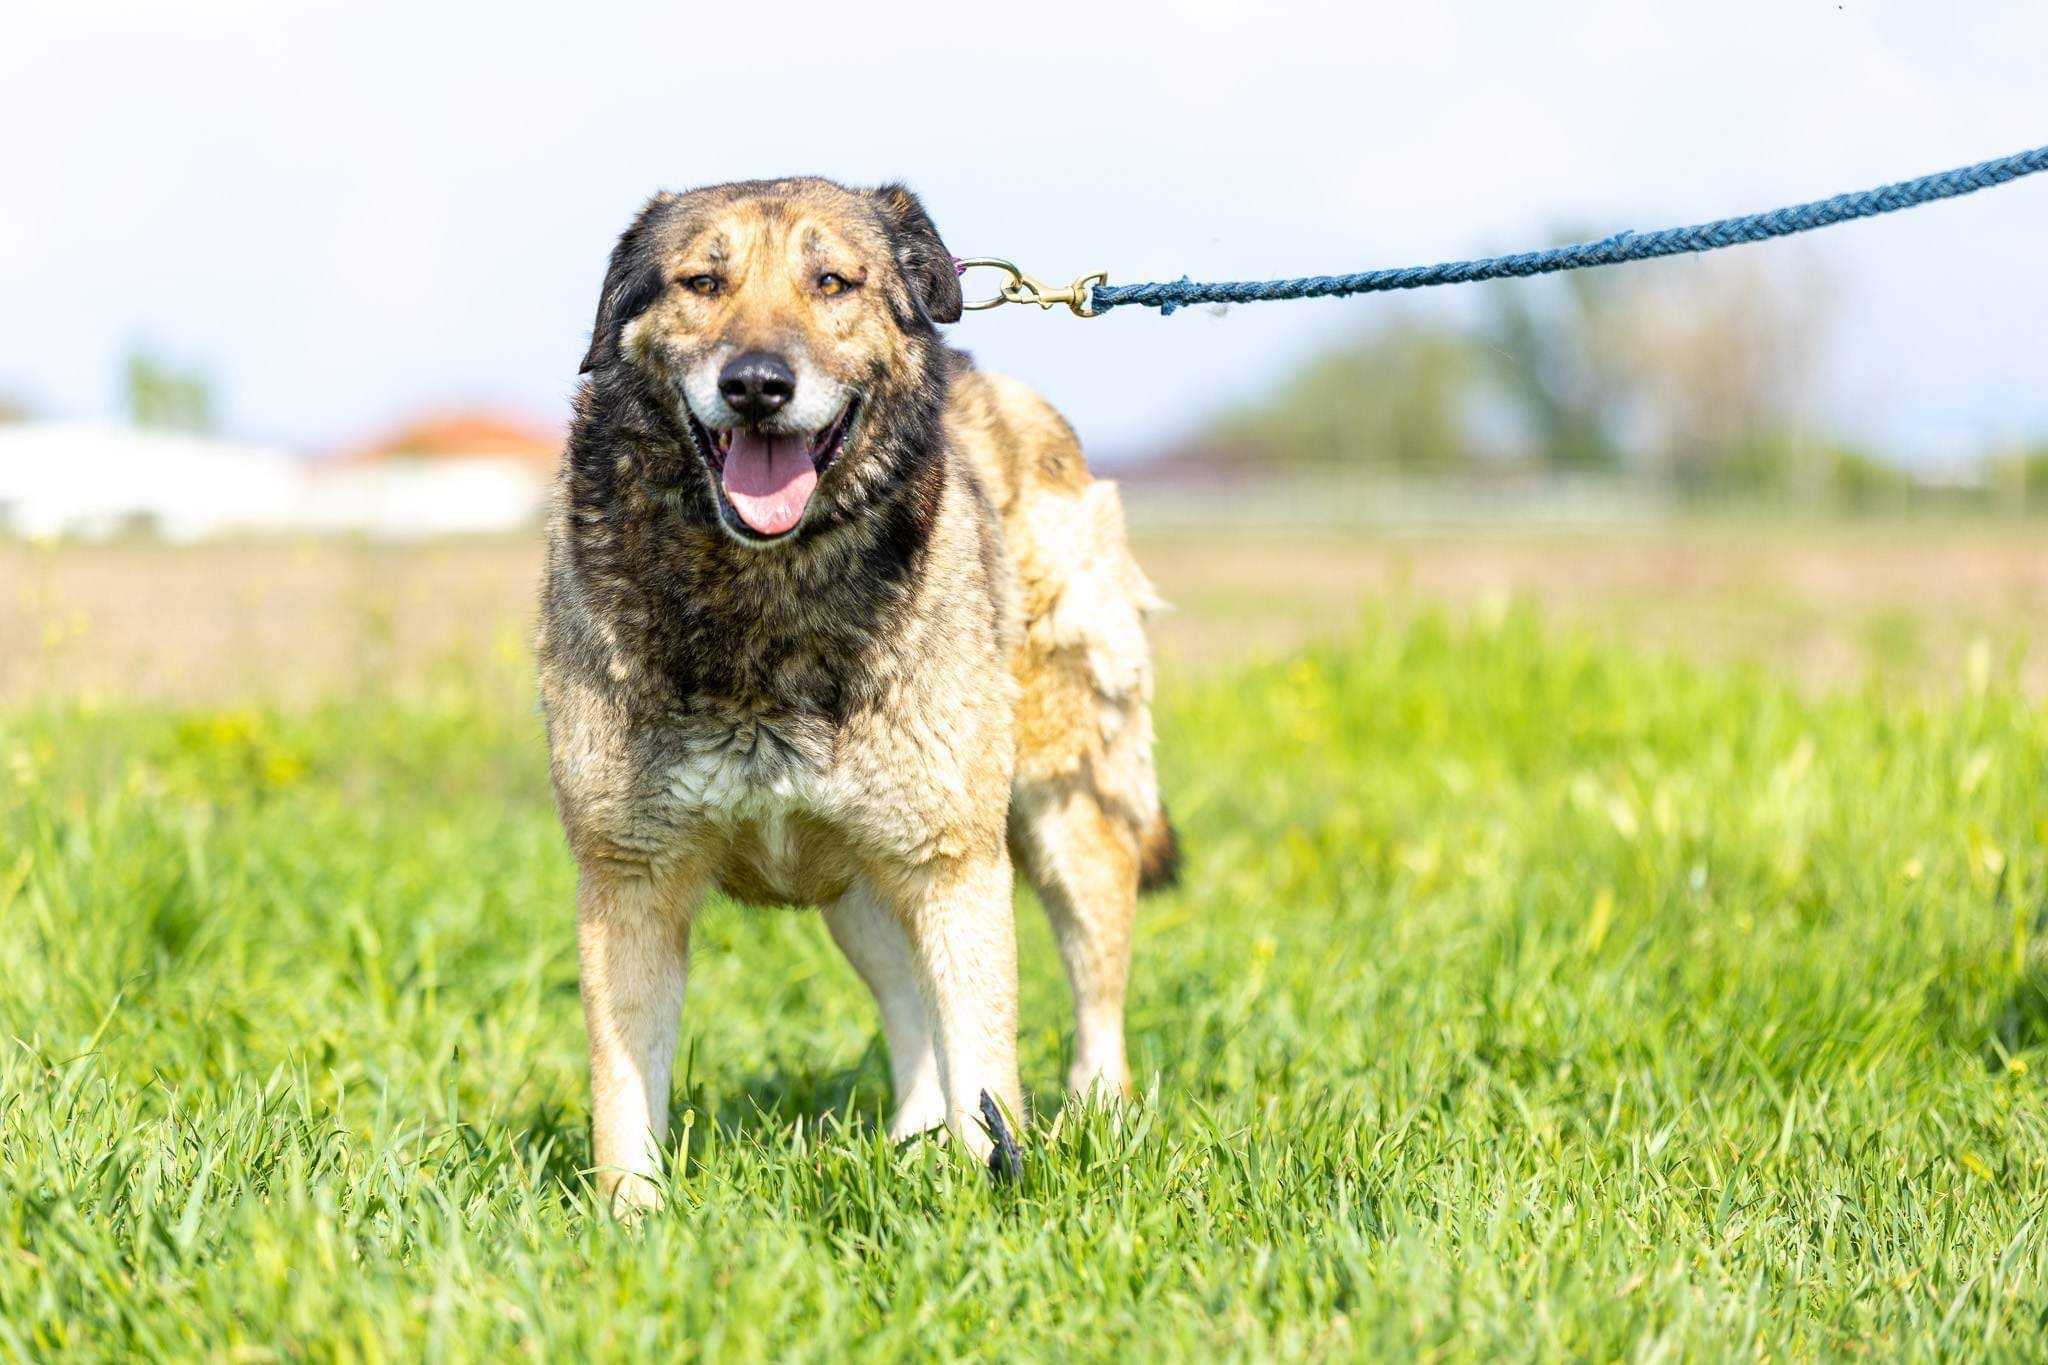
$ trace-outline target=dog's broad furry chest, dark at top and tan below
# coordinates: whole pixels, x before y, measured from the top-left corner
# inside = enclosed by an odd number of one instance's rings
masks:
[[[651,503],[610,512],[557,526],[578,553],[551,565],[543,632],[571,837],[756,902],[827,902],[877,864],[1001,837],[999,530],[965,481],[936,491],[913,557],[883,514],[795,575],[637,524]]]

